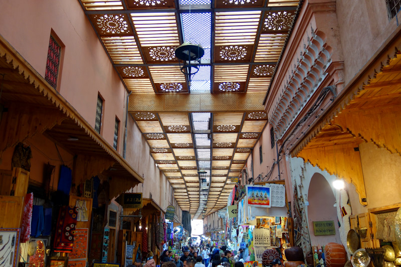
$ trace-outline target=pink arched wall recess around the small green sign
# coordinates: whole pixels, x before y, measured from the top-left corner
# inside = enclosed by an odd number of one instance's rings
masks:
[[[313,174],[308,191],[308,225],[312,245],[325,245],[328,242],[341,243],[338,231],[337,208],[334,207],[335,196],[330,184],[320,173]],[[315,235],[314,221],[334,221],[334,235]]]

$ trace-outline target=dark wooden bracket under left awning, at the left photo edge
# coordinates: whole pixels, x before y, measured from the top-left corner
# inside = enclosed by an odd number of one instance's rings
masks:
[[[38,107],[21,103],[7,105],[8,111],[3,113],[0,129],[0,154],[19,142],[53,128],[67,118],[58,109]]]

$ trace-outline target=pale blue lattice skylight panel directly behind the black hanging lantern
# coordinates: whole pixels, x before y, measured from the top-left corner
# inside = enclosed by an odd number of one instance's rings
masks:
[[[212,14],[211,13],[183,13],[181,14],[184,42],[201,45],[205,49],[203,60],[210,60],[212,41]]]

